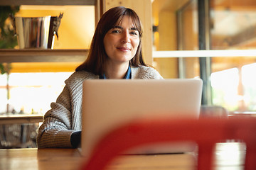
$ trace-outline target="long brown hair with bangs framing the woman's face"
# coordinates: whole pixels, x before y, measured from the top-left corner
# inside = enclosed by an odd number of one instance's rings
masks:
[[[114,28],[114,26],[117,25],[117,22],[122,22],[124,16],[129,16],[134,23],[134,27],[139,31],[139,46],[136,54],[129,63],[134,67],[139,67],[141,65],[147,66],[142,58],[142,25],[139,16],[131,8],[117,6],[110,8],[110,10],[105,12],[102,15],[102,18],[100,18],[92,38],[88,57],[85,62],[75,69],[75,71],[85,70],[96,75],[103,74],[105,63],[107,61],[103,39],[105,38],[107,31]]]

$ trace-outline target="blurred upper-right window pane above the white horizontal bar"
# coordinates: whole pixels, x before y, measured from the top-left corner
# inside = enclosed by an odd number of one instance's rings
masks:
[[[211,10],[211,49],[255,48],[256,1],[251,5],[247,1],[226,3],[226,7],[215,3]]]

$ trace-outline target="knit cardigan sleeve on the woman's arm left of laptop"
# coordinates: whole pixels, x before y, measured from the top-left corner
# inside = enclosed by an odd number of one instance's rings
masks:
[[[50,104],[51,109],[44,115],[38,130],[37,145],[42,147],[72,147],[70,93],[65,86],[57,101]]]

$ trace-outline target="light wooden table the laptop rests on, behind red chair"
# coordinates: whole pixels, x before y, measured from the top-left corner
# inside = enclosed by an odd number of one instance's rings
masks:
[[[218,170],[243,169],[245,147],[238,143],[218,144],[215,167]],[[0,169],[79,169],[78,149],[0,149]],[[186,154],[122,155],[108,170],[192,170],[196,157]]]

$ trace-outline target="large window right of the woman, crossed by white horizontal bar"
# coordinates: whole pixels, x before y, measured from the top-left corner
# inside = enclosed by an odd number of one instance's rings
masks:
[[[256,1],[154,0],[152,8],[153,57],[160,74],[200,76],[207,84],[203,104],[255,111]]]

